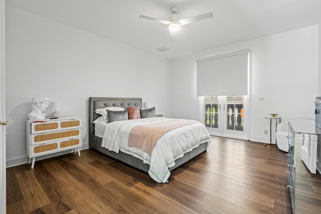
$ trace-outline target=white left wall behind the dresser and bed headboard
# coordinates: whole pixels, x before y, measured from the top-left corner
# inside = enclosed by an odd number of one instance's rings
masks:
[[[89,97],[140,97],[170,114],[169,71],[168,60],[6,5],[7,167],[29,160],[33,97],[60,101],[62,117],[83,117],[88,147]]]

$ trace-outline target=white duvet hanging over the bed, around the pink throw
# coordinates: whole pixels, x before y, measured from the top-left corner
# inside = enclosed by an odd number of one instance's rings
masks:
[[[196,122],[191,125],[173,129],[160,137],[149,156],[135,147],[128,147],[129,131],[136,125],[146,125],[173,120],[172,118],[150,117],[143,119],[114,121],[106,125],[102,147],[109,151],[122,151],[131,154],[149,164],[149,176],[159,183],[168,182],[171,174],[169,168],[184,153],[198,147],[201,143],[210,142],[210,135],[204,124]]]

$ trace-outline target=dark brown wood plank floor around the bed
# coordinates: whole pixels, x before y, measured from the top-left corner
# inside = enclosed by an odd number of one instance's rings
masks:
[[[212,137],[168,183],[93,150],[7,169],[7,213],[292,213],[285,153]]]

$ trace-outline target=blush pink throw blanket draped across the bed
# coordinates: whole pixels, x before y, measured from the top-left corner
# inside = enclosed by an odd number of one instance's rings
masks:
[[[168,131],[193,123],[197,123],[197,121],[173,119],[160,123],[137,125],[129,132],[128,146],[141,149],[150,156],[159,137],[162,137]]]

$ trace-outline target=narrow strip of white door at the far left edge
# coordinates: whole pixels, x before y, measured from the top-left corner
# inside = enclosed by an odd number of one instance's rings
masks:
[[[6,93],[5,93],[5,0],[0,0],[0,10],[1,10],[1,18],[0,18],[0,120],[6,120],[6,111],[5,111],[5,101],[6,101]],[[6,213],[7,211],[7,190],[6,190],[6,126],[0,125],[0,212]]]

